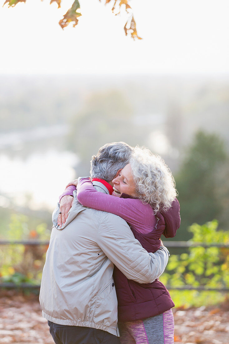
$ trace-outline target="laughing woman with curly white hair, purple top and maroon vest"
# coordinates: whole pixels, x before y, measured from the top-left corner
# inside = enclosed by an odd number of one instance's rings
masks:
[[[77,199],[82,205],[125,219],[148,252],[160,247],[162,234],[175,236],[180,225],[175,182],[159,155],[135,147],[129,164],[117,172],[112,182],[112,195],[97,192],[89,178],[80,178],[67,186],[77,185]],[[128,280],[116,267],[113,278],[121,343],[174,343],[174,303],[163,283],[155,280],[140,284]]]

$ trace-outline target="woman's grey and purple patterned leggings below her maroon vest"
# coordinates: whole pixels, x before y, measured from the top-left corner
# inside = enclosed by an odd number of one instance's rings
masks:
[[[120,322],[121,344],[174,344],[172,309],[144,320]]]

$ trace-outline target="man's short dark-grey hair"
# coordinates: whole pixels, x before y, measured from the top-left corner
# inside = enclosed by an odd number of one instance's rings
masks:
[[[96,155],[92,155],[91,178],[113,180],[117,171],[129,163],[132,152],[133,147],[125,142],[105,144]]]

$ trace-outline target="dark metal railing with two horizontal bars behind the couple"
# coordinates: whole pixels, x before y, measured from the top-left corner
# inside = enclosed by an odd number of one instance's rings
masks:
[[[47,240],[0,240],[1,245],[49,245]],[[164,245],[167,248],[190,248],[190,247],[222,247],[229,248],[228,244],[219,244],[219,243],[198,243],[193,241],[164,241]],[[0,283],[0,288],[7,289],[40,289],[40,284],[28,284],[28,283]],[[210,288],[205,286],[171,286],[166,285],[168,290],[197,290],[197,291],[220,291],[220,292],[229,292],[229,288]]]

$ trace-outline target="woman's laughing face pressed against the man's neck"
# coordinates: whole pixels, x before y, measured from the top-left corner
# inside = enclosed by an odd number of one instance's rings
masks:
[[[112,180],[112,183],[114,184],[114,195],[121,196],[122,193],[125,193],[130,196],[135,196],[136,191],[130,164],[127,164],[118,172],[117,177]]]

